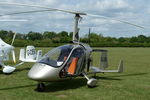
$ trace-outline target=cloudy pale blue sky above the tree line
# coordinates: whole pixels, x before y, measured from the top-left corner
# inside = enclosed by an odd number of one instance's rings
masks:
[[[80,36],[87,34],[89,28],[92,32],[103,36],[131,37],[141,34],[150,36],[150,0],[0,0],[0,2],[80,11],[124,20],[145,27],[145,29],[140,29],[111,19],[81,16]],[[0,4],[0,15],[32,10],[43,9]],[[9,21],[11,19],[27,21]],[[64,12],[38,12],[0,17],[0,30],[12,30],[24,34],[29,31],[72,32],[73,25],[74,15]]]

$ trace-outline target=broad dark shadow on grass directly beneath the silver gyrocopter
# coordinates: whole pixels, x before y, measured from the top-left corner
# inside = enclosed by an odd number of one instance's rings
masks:
[[[87,80],[84,78],[52,82],[46,85],[44,92],[56,92],[56,91],[64,91],[69,89],[76,89],[85,86],[86,83]],[[35,89],[35,91],[37,90]]]

